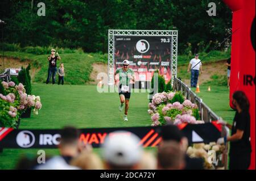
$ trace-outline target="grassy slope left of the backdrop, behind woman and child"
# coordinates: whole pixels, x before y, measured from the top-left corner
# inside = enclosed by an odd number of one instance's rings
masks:
[[[39,69],[35,74],[33,82],[42,83],[46,81],[48,70],[48,54],[31,54],[26,52],[5,52],[5,56],[19,58],[22,61],[29,60],[32,68]],[[57,61],[57,68],[60,62],[65,67],[65,83],[69,85],[84,85],[90,81],[92,64],[94,62],[107,63],[107,54],[100,53],[63,53],[60,54],[61,60]]]

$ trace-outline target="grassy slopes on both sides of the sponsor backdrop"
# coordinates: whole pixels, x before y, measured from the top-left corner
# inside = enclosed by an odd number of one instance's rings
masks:
[[[216,62],[219,60],[225,60],[230,56],[230,51],[220,52],[212,51],[208,53],[200,53],[200,59],[205,63]],[[19,58],[20,60],[30,60],[34,68],[40,69],[36,73],[34,82],[45,82],[47,78],[48,61],[47,54],[36,55],[26,52],[5,52],[7,57]],[[61,61],[64,62],[65,67],[65,83],[69,85],[84,85],[89,82],[90,73],[92,71],[93,62],[108,63],[108,54],[99,53],[62,53],[60,54]],[[178,65],[187,65],[192,56],[179,55]],[[60,61],[57,63],[59,66]],[[188,78],[187,69],[179,71],[179,77]]]

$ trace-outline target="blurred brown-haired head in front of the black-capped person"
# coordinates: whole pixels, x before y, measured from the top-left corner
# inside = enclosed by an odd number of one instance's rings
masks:
[[[182,170],[185,167],[185,153],[176,141],[163,142],[158,147],[158,169]]]

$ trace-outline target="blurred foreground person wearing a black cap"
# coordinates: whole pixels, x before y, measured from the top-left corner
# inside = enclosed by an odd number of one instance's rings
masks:
[[[181,149],[187,152],[188,139],[175,125],[165,125],[160,131],[163,141],[160,145],[168,141],[176,141],[181,145]],[[204,160],[202,158],[190,158],[185,154],[185,167],[184,170],[203,170]]]

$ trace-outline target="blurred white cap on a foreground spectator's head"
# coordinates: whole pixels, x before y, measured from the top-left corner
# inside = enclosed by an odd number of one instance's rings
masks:
[[[103,144],[102,156],[106,162],[117,166],[133,166],[142,157],[140,139],[131,132],[110,133]]]

